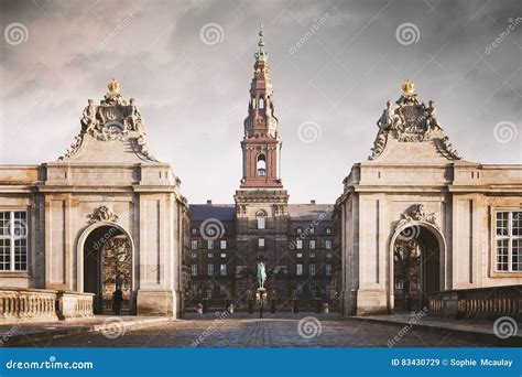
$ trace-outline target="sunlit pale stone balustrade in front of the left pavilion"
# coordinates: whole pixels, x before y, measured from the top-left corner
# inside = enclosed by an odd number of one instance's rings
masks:
[[[0,288],[0,323],[93,316],[93,293]]]

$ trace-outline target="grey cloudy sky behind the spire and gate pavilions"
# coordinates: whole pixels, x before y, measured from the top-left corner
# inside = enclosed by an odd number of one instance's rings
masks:
[[[405,78],[465,159],[521,163],[519,18],[520,0],[0,0],[0,161],[56,160],[115,77],[189,202],[232,203],[263,23],[291,202],[339,196]]]

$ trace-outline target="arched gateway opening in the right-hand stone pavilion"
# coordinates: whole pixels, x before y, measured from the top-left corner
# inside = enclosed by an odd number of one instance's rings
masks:
[[[442,245],[423,226],[403,229],[393,244],[395,311],[418,311],[427,305],[426,293],[441,290]]]

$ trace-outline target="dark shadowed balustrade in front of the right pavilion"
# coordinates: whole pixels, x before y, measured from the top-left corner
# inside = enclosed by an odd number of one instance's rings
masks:
[[[442,291],[427,297],[432,315],[458,319],[509,315],[522,320],[522,286]]]

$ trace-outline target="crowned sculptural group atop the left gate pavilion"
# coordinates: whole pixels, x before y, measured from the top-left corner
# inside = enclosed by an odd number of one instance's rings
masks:
[[[134,99],[127,101],[120,94],[120,84],[115,79],[107,87],[109,91],[99,106],[93,99],[87,101],[80,118],[81,131],[70,149],[58,160],[74,155],[81,147],[84,137],[89,134],[100,141],[131,139],[138,155],[148,161],[156,161],[146,146],[145,126]]]

